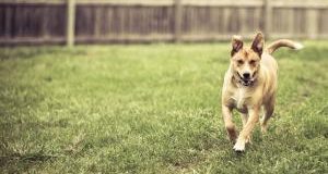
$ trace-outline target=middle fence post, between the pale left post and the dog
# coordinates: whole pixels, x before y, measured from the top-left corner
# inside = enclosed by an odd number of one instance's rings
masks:
[[[181,0],[174,0],[174,41],[181,41],[181,17],[183,17],[183,3]]]

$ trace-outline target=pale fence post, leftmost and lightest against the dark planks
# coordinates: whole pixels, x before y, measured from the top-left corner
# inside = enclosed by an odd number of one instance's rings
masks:
[[[75,0],[67,1],[67,42],[68,47],[74,46],[75,39]]]

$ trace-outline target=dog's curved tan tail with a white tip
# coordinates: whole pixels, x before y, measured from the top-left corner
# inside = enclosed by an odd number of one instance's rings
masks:
[[[304,46],[300,42],[295,42],[289,39],[280,39],[277,41],[273,41],[271,45],[267,47],[268,53],[273,53],[277,49],[280,47],[289,47],[294,50],[301,50]]]

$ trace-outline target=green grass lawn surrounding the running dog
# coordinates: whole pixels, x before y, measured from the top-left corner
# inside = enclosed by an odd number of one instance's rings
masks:
[[[327,173],[328,42],[279,50],[268,135],[221,119],[230,44],[0,49],[3,173]],[[235,121],[241,127],[239,115]]]

